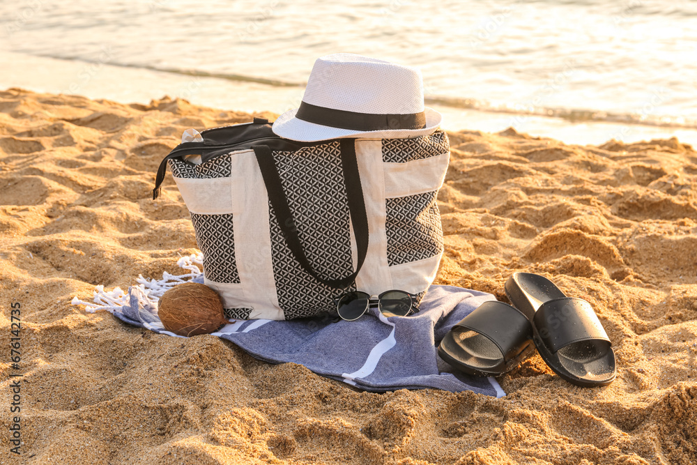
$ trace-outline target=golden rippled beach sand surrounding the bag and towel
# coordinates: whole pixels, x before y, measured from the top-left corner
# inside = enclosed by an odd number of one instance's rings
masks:
[[[273,118],[273,114],[262,114]],[[436,282],[505,300],[540,273],[595,307],[618,378],[578,388],[535,355],[507,396],[358,392],[70,305],[95,285],[180,273],[197,251],[168,174],[187,128],[251,115],[0,92],[3,464],[697,463],[697,153],[676,139],[571,146],[450,132]],[[10,305],[22,318],[22,456],[9,453]]]

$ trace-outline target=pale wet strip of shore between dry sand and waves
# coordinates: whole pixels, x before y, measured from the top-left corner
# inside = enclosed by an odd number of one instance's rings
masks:
[[[205,75],[116,66],[110,61],[109,54],[103,59],[87,62],[3,52],[0,54],[0,67],[6,70],[6,75],[0,77],[0,89],[17,86],[38,92],[107,98],[124,105],[133,102],[147,105],[151,100],[171,96],[183,98],[192,105],[245,112],[270,111],[276,114],[298,107],[305,90],[303,86],[268,86],[261,82],[233,82]],[[452,102],[452,105],[443,105],[443,102]],[[518,132],[582,145],[603,144],[610,139],[631,143],[675,136],[684,143],[697,146],[696,128],[638,125],[629,121],[595,121],[589,116],[592,112],[583,112],[585,121],[576,121],[547,117],[539,109],[530,114],[518,110],[512,112],[507,107],[477,109],[476,105],[464,105],[452,98],[444,101],[442,98],[430,97],[427,98],[427,105],[443,114],[443,128],[446,130],[466,128],[499,132],[513,127]],[[654,107],[650,102],[645,105],[649,107],[643,107],[636,117],[652,116]],[[567,114],[569,111],[556,109],[559,114]]]

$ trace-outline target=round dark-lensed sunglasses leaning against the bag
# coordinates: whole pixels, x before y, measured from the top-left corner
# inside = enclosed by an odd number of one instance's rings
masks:
[[[371,296],[361,291],[347,292],[334,299],[339,317],[346,321],[357,320],[365,314],[368,307],[378,307],[385,317],[406,317],[415,307],[418,296],[405,291],[385,291],[379,296]]]

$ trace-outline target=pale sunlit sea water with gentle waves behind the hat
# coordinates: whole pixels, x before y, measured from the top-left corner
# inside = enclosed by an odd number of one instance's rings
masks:
[[[297,107],[318,56],[418,66],[451,130],[697,143],[697,2],[21,0],[0,88]]]

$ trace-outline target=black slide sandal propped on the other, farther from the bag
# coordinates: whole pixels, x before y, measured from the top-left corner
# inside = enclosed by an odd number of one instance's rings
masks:
[[[615,352],[590,303],[532,273],[514,273],[505,292],[533,322],[533,341],[553,372],[585,388],[615,379]]]

